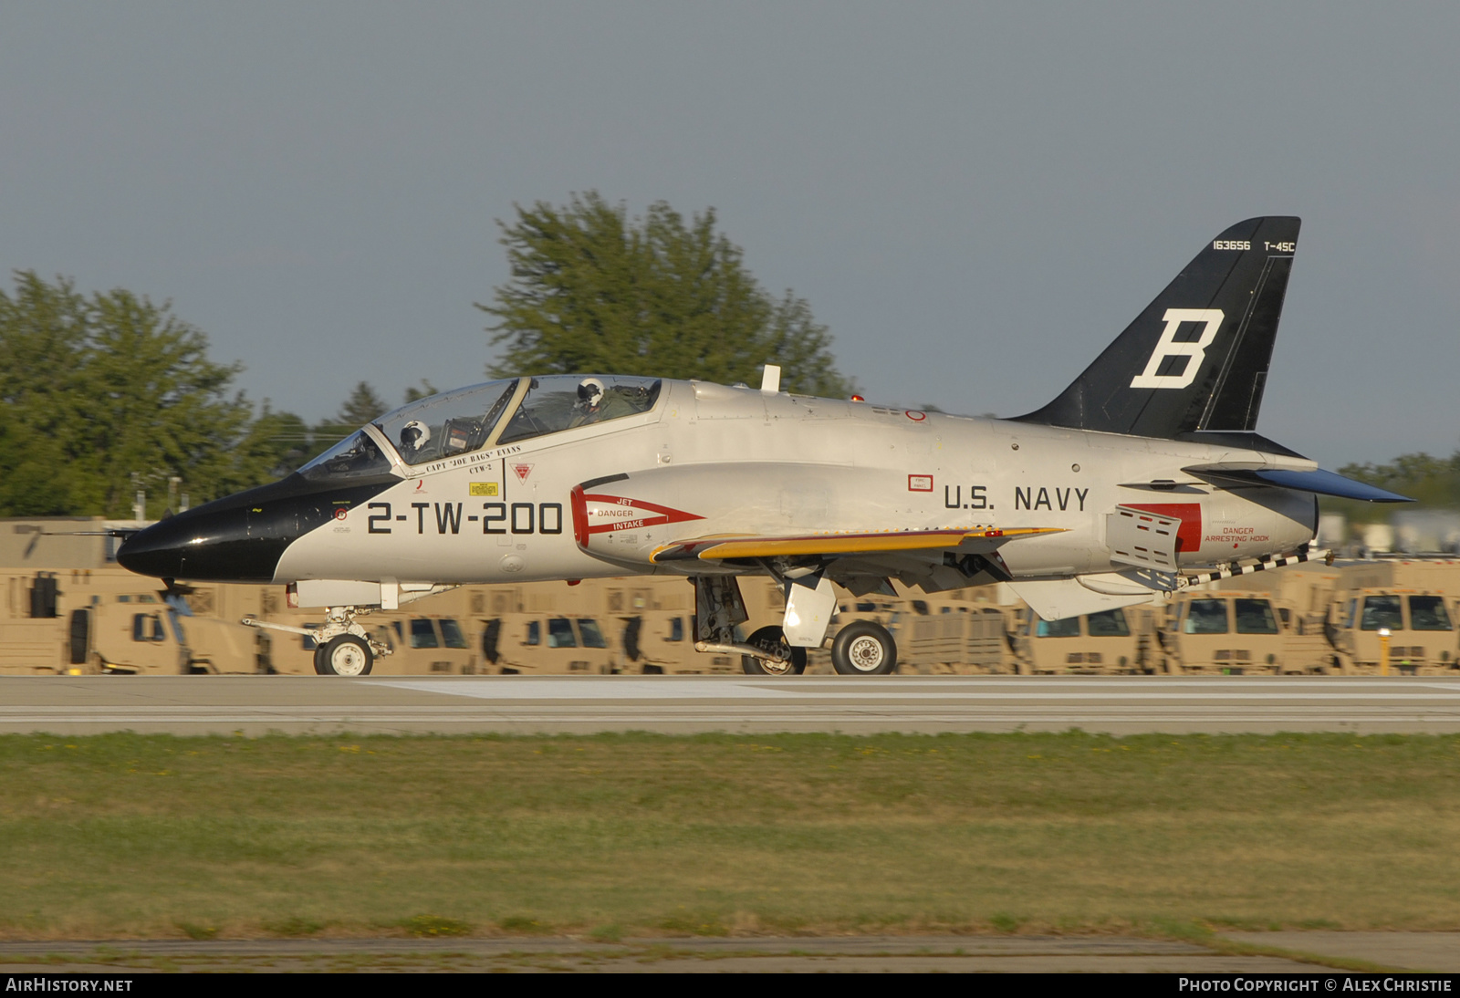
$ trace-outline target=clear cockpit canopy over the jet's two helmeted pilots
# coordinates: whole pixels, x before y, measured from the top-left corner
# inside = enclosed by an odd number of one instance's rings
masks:
[[[393,458],[420,465],[502,444],[647,413],[658,400],[657,378],[548,375],[510,378],[444,391],[381,416],[299,468],[310,479],[388,474]]]

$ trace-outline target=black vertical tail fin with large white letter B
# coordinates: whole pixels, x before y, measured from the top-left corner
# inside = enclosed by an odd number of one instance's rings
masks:
[[[1216,236],[1075,384],[1018,419],[1168,439],[1256,429],[1298,225],[1248,219]]]

